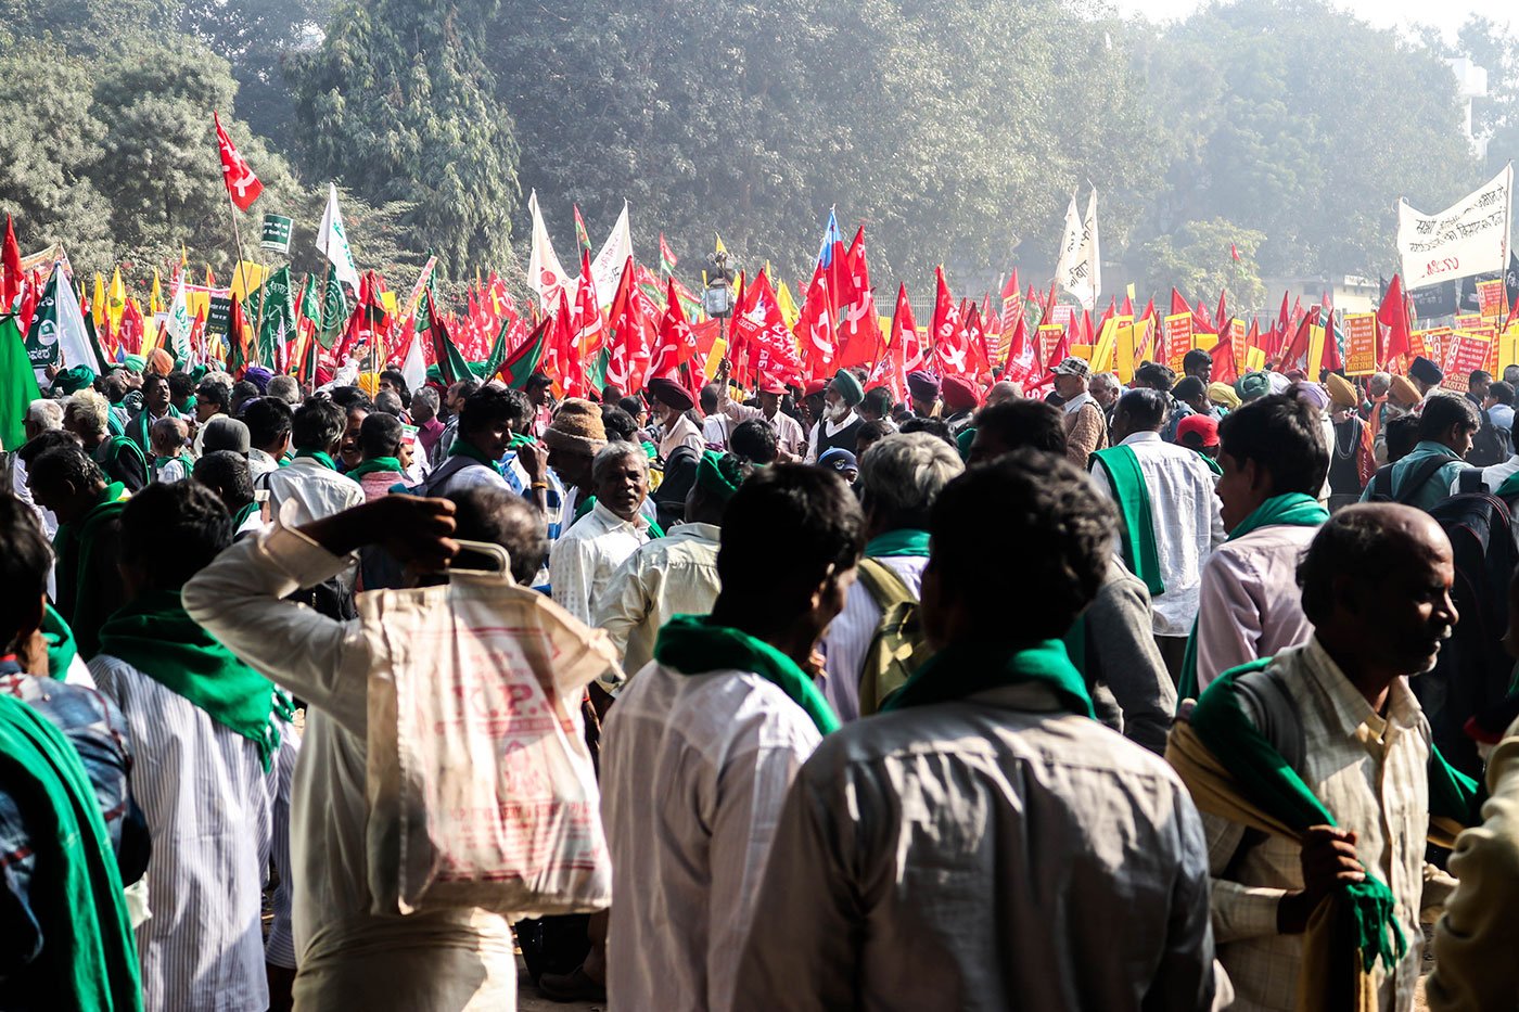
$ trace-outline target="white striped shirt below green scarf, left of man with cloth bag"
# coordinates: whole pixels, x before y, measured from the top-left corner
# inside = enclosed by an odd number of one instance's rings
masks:
[[[147,865],[153,915],[137,928],[144,1007],[267,1009],[264,963],[295,968],[295,728],[281,726],[279,751],[266,773],[249,738],[125,661],[97,655],[90,672],[126,716],[137,754],[132,795],[153,834]],[[260,915],[270,860],[279,881],[266,950]]]

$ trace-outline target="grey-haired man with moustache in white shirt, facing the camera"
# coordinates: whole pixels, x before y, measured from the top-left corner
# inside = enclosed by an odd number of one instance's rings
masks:
[[[609,442],[595,454],[591,494],[591,512],[554,541],[548,556],[554,602],[585,623],[617,567],[659,533],[639,512],[649,495],[649,454],[638,444]]]

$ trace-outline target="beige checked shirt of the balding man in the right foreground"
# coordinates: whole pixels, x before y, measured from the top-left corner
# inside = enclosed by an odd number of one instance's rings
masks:
[[[1429,828],[1429,722],[1405,679],[1387,693],[1387,719],[1340,672],[1317,638],[1282,650],[1274,666],[1300,714],[1303,783],[1337,825],[1356,833],[1356,855],[1393,890],[1408,953],[1388,974],[1375,968],[1378,1007],[1410,1012],[1423,936],[1425,836]],[[1303,887],[1300,848],[1281,837],[1241,849],[1246,827],[1203,813],[1214,877],[1214,938],[1240,1012],[1291,1012],[1302,935],[1276,933],[1276,909]],[[1252,834],[1255,837],[1258,834]]]

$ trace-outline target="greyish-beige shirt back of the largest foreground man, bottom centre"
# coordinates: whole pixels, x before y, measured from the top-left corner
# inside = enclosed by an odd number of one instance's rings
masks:
[[[1230,997],[1186,787],[1042,685],[829,734],[773,854],[738,1009],[1195,1012]]]

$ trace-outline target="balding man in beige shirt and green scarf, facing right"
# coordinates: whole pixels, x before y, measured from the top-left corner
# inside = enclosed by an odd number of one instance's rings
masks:
[[[1408,679],[1434,667],[1451,635],[1454,579],[1451,544],[1428,514],[1350,506],[1320,527],[1297,571],[1312,625],[1308,643],[1233,669],[1203,693],[1192,720],[1198,737],[1205,708],[1223,699],[1211,697],[1232,696],[1334,819],[1303,828],[1299,845],[1209,813],[1194,790],[1208,834],[1214,939],[1236,991],[1233,1007],[1296,1007],[1309,915],[1340,886],[1375,877],[1391,890],[1390,927],[1408,948],[1378,960],[1367,988],[1373,1007],[1413,1009],[1419,912],[1432,906],[1425,903],[1431,770],[1443,761]],[[1230,776],[1250,766],[1227,745],[1209,748]],[[1177,769],[1191,784],[1182,763]],[[1442,895],[1431,889],[1431,898],[1443,901],[1448,880],[1435,881]]]

